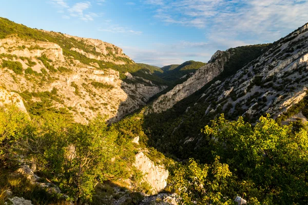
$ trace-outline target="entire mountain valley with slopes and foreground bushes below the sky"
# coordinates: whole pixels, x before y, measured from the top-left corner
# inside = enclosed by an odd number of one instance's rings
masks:
[[[308,24],[160,68],[0,17],[0,204],[306,204],[307,61]]]

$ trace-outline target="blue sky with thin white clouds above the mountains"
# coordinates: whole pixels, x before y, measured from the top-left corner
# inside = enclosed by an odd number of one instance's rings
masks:
[[[98,38],[138,63],[165,66],[278,40],[308,22],[308,0],[10,0],[0,16]]]

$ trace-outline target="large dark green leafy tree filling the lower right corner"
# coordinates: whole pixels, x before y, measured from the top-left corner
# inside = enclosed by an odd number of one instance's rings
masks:
[[[242,117],[227,121],[222,115],[212,121],[204,129],[211,152],[229,165],[237,177],[237,194],[248,202],[307,203],[308,132],[294,132],[268,117],[260,117],[254,128]]]

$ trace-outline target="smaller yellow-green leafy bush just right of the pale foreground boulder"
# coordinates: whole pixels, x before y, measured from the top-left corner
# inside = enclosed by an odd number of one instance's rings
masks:
[[[180,195],[181,204],[232,204],[232,173],[228,165],[215,158],[212,165],[200,165],[189,159],[187,165],[176,163],[170,169],[170,183]]]

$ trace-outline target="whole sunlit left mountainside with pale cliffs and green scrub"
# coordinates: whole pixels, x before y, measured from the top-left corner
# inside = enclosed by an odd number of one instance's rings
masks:
[[[0,85],[19,93],[30,114],[49,109],[78,122],[98,115],[114,121],[166,88],[152,74],[130,75],[142,67],[101,40],[31,29],[5,18],[0,28]],[[121,80],[125,74],[129,81]]]

